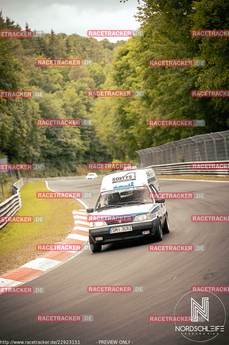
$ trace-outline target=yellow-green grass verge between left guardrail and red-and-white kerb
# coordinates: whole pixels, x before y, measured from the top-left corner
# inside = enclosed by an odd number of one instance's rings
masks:
[[[74,227],[73,209],[82,208],[74,199],[37,199],[47,191],[44,181],[25,184],[17,216],[44,216],[44,223],[8,223],[0,229],[0,274],[38,258],[39,243],[53,244],[66,238]]]

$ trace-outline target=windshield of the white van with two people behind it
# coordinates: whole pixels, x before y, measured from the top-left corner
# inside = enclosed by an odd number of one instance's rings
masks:
[[[126,191],[115,191],[113,193],[111,192],[103,192],[101,193],[96,205],[95,210],[98,210],[100,208],[109,208],[113,205],[117,205],[117,207],[120,206],[131,206],[141,203],[152,203],[152,199],[150,197],[150,190],[147,186],[145,187],[135,187],[131,190]]]

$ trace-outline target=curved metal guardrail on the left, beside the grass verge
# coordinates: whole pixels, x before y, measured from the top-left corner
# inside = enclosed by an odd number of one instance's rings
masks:
[[[24,182],[22,178],[13,184],[13,187],[17,189],[17,192],[0,204],[0,217],[13,216],[21,208],[20,188],[23,184]],[[6,223],[0,222],[0,229],[4,225],[6,225]]]

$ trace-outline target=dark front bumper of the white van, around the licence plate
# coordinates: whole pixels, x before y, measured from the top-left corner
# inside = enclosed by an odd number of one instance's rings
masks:
[[[107,225],[102,228],[89,228],[89,235],[92,237],[94,243],[101,243],[101,244],[108,244],[113,243],[116,241],[124,241],[139,237],[146,237],[150,235],[154,235],[156,231],[158,218],[152,220],[146,220],[143,222],[136,222],[136,223],[123,223],[123,224],[112,224]],[[118,226],[128,226],[132,225],[132,231],[124,231],[122,233],[112,233],[110,234],[109,228],[114,228]],[[150,233],[147,235],[143,235],[142,231],[149,230]],[[101,241],[96,241],[95,237],[103,237]]]

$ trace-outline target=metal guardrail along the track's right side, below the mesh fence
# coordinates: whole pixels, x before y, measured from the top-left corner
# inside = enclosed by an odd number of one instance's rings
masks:
[[[218,162],[229,163],[228,160],[220,160]],[[201,161],[201,162],[182,162],[171,164],[150,165],[145,168],[152,168],[157,175],[203,175],[203,176],[229,176],[229,170],[194,170],[191,164],[209,164],[217,163],[217,161]]]

